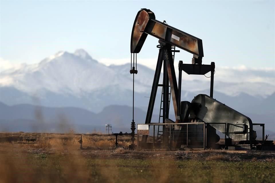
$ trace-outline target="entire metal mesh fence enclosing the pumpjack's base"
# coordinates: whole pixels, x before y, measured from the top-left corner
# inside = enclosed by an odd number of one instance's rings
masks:
[[[257,134],[256,140],[264,140],[264,124],[253,124],[253,131]],[[246,124],[137,124],[137,144],[148,149],[219,149],[250,144],[249,133]]]

